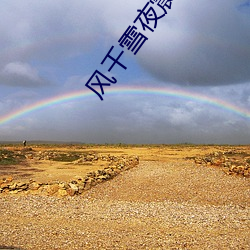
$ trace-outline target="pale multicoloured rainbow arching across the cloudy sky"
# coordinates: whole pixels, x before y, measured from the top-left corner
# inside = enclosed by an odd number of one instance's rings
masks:
[[[114,87],[113,89],[106,90],[106,93],[104,95],[104,101],[110,94],[122,94],[122,95],[158,95],[158,96],[171,96],[176,98],[183,98],[183,99],[191,99],[198,102],[207,103],[219,108],[222,108],[224,110],[227,110],[229,112],[235,113],[237,115],[240,115],[244,118],[250,118],[250,112],[246,109],[240,108],[238,106],[235,106],[229,102],[226,102],[221,99],[217,99],[214,97],[206,96],[200,93],[195,92],[188,92],[184,90],[176,90],[171,88],[156,88],[156,87],[150,87],[150,88],[144,88],[144,87]],[[67,94],[61,94],[57,95],[48,99],[44,99],[41,101],[38,101],[36,103],[33,103],[28,106],[24,106],[18,110],[15,110],[13,112],[10,112],[2,117],[0,117],[0,125],[3,125],[7,122],[10,122],[14,119],[17,119],[21,116],[24,116],[28,113],[31,113],[33,111],[46,108],[52,105],[56,105],[59,103],[86,98],[86,97],[93,97],[96,98],[96,101],[100,101],[98,96],[91,92],[90,90],[81,90],[81,91],[75,91],[70,92]]]

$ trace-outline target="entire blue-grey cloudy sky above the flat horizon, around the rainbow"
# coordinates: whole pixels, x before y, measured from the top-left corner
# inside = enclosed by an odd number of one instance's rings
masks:
[[[143,14],[133,23],[147,2],[0,0],[0,121],[48,98],[93,93],[85,84],[95,70],[117,80],[103,101],[83,95],[0,122],[0,141],[250,144],[250,1],[173,0],[165,16],[150,3],[145,12],[162,16],[148,21],[153,31]],[[148,38],[136,55],[118,42],[133,25]],[[111,46],[127,70],[100,64]]]

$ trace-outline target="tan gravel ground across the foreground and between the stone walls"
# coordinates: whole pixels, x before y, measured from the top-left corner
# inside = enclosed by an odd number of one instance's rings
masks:
[[[249,178],[142,161],[82,196],[0,196],[0,246],[247,250],[249,205]]]

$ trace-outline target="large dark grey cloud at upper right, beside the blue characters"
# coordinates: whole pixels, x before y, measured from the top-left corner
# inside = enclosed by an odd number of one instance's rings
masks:
[[[245,1],[175,1],[140,63],[156,78],[185,85],[250,80],[250,15]],[[248,7],[248,6],[247,6]]]

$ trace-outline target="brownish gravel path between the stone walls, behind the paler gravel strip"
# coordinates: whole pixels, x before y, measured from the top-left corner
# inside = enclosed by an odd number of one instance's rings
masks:
[[[97,191],[96,191],[97,190]],[[192,202],[200,205],[250,204],[250,181],[189,161],[147,162],[90,192],[97,199],[139,202]]]

